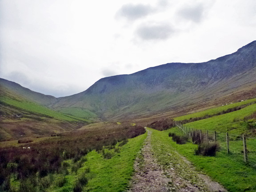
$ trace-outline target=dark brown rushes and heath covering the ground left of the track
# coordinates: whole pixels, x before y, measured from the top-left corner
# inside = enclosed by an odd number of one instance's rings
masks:
[[[96,166],[90,161],[91,156],[88,156],[88,153],[97,153],[99,161],[102,161],[104,148],[115,153],[118,142],[124,140],[127,143],[127,139],[144,132],[144,128],[139,126],[119,126],[106,130],[87,129],[65,132],[60,134],[60,137],[29,144],[30,149],[23,148],[28,147],[28,144],[0,148],[0,191],[44,191],[46,188],[51,188],[52,191],[62,187],[68,187],[68,191],[79,191],[88,181],[87,177],[81,175],[80,169],[89,174],[88,172]],[[141,143],[136,149],[140,147]],[[122,152],[122,149],[119,150]],[[116,154],[117,152],[118,150]],[[129,153],[136,154],[136,150]],[[113,154],[112,158],[115,156]],[[88,164],[90,166],[84,167],[88,162],[91,162]],[[132,167],[129,169],[132,170]],[[80,177],[76,179],[77,175]]]

